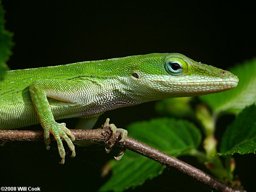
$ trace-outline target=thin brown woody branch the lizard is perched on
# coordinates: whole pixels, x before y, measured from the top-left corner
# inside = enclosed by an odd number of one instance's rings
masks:
[[[116,133],[115,137],[111,137],[111,131],[108,126],[104,127],[104,130],[70,130],[76,137],[76,140],[85,140],[89,142],[107,142],[112,146],[115,144],[115,140],[118,140],[121,135]],[[0,131],[0,140],[19,140],[19,141],[32,141],[42,140],[44,137],[43,131],[14,131],[3,130]],[[54,139],[52,137],[52,139]],[[124,143],[118,143],[119,145],[128,148],[131,151],[142,154],[152,160],[155,160],[163,165],[175,168],[180,172],[195,178],[196,180],[212,187],[221,192],[245,192],[243,190],[233,189],[224,183],[221,183],[216,178],[208,175],[207,173],[197,169],[175,157],[169,156],[155,148],[152,148],[140,141],[134,140],[131,137],[127,137]]]

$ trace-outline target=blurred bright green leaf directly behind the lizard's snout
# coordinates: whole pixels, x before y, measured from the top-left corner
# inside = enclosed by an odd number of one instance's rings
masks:
[[[237,114],[246,106],[256,102],[256,58],[236,65],[230,69],[230,72],[239,77],[236,88],[222,93],[200,96],[215,114]]]

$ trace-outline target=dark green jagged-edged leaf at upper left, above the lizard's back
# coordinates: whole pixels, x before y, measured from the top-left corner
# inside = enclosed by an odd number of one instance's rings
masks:
[[[9,59],[9,56],[12,54],[11,48],[14,45],[12,43],[13,34],[6,31],[4,27],[4,13],[5,12],[0,1],[0,79],[2,79],[6,70],[9,70],[5,63]]]

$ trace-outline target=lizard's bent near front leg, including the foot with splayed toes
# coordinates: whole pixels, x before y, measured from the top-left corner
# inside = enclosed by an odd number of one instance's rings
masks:
[[[72,81],[38,80],[29,86],[30,97],[41,125],[44,128],[44,142],[46,148],[49,149],[49,134],[51,133],[58,143],[58,152],[61,157],[61,164],[64,164],[65,162],[65,150],[61,137],[63,137],[67,142],[67,145],[72,151],[71,157],[76,156],[75,146],[72,142],[75,140],[75,137],[70,130],[66,128],[65,123],[55,122],[47,97],[51,97],[62,102],[75,102],[76,98],[74,98],[73,93],[76,91],[74,87],[77,88],[77,85],[77,82]],[[70,136],[71,139],[68,136]]]

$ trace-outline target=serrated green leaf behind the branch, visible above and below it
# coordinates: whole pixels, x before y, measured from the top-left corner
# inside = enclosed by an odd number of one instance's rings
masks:
[[[185,120],[151,119],[128,126],[128,134],[169,155],[189,154],[201,143],[201,132]],[[100,191],[119,192],[142,185],[163,172],[164,166],[132,151],[126,151],[120,161],[111,161],[112,177]]]

